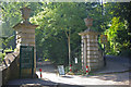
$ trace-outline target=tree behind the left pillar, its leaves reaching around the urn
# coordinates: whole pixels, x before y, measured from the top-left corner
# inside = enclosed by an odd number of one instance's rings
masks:
[[[20,23],[22,21],[21,17],[21,11],[20,9],[23,7],[29,7],[33,9],[33,13],[31,15],[34,15],[37,13],[40,9],[39,3],[28,3],[28,2],[0,2],[0,8],[2,12],[2,24],[0,30],[2,32],[1,36],[4,37],[11,37],[12,35],[15,35],[14,29],[12,28],[14,25]],[[5,41],[3,41],[5,44]],[[1,42],[2,45],[2,42]],[[7,48],[10,46],[15,48],[15,38],[13,37],[11,41],[7,41]]]

